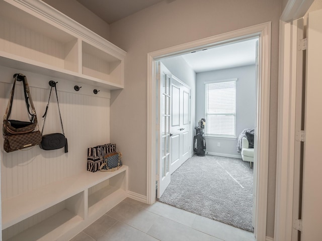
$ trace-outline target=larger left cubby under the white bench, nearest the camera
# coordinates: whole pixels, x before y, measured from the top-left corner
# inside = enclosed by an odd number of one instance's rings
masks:
[[[28,200],[26,200],[28,201]],[[84,191],[3,230],[3,240],[57,240],[85,218]]]

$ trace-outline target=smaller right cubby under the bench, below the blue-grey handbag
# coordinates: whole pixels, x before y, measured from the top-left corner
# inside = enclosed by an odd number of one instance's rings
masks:
[[[125,169],[120,170],[117,175],[89,188],[89,216],[107,212],[127,196],[127,173]]]

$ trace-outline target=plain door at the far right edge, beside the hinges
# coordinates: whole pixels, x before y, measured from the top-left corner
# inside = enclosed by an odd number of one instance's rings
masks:
[[[301,240],[322,237],[322,10],[308,15]]]

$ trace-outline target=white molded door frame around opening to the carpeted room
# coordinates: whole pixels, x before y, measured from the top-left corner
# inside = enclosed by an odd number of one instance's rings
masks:
[[[150,52],[147,54],[147,200],[155,202],[156,180],[156,81],[155,62],[166,57],[185,54],[205,47],[259,37],[259,73],[258,73],[258,151],[256,166],[257,195],[255,208],[254,234],[258,240],[266,239],[267,196],[268,196],[268,160],[269,160],[269,116],[270,116],[270,74],[271,74],[271,22],[247,27],[240,30],[216,35],[190,43]]]

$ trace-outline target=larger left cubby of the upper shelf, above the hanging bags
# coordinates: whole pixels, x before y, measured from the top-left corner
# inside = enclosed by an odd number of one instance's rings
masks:
[[[0,3],[0,51],[2,64],[25,64],[78,71],[75,36],[4,1]],[[14,65],[14,66],[12,66]]]

